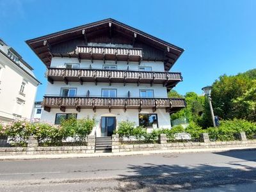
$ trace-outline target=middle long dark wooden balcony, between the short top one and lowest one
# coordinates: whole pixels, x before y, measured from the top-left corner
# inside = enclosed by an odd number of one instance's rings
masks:
[[[172,88],[182,81],[180,72],[145,72],[132,70],[105,70],[90,68],[49,68],[46,73],[50,83],[54,81],[100,83],[150,83]]]

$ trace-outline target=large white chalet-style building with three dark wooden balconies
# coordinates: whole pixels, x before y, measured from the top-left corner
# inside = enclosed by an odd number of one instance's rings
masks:
[[[26,41],[47,67],[41,120],[94,117],[93,134],[111,136],[129,120],[148,130],[171,128],[184,99],[168,99],[182,81],[170,72],[183,49],[113,19]]]

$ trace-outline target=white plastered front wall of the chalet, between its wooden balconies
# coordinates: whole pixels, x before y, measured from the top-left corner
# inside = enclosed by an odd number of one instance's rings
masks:
[[[63,68],[67,64],[77,64],[79,68],[99,68],[102,69],[106,65],[116,66],[118,70],[140,70],[140,67],[150,67],[152,71],[157,72],[164,72],[164,64],[163,62],[154,62],[154,61],[141,61],[140,65],[138,62],[129,63],[127,62],[118,61],[91,61],[88,60],[81,60],[81,63],[76,58],[52,58],[51,67],[60,67]],[[111,89],[116,90],[116,97],[128,97],[128,92],[130,92],[130,97],[140,97],[141,90],[152,90],[154,98],[167,98],[167,90],[163,84],[140,84],[139,86],[136,83],[95,83],[84,82],[81,85],[79,82],[68,82],[65,84],[62,82],[54,81],[54,84],[48,83],[45,95],[61,95],[61,90],[63,88],[74,88],[76,89],[77,96],[84,96],[90,91],[90,96],[92,97],[101,97],[102,96],[102,89]],[[63,113],[60,109],[52,108],[50,112],[42,111],[41,122],[48,122],[54,124],[56,120],[56,114]],[[115,116],[116,118],[116,129],[118,129],[118,122],[122,120],[129,120],[131,122],[135,122],[136,125],[139,125],[139,115],[140,114],[156,114],[157,115],[157,127],[155,128],[164,128],[170,129],[170,114],[166,112],[165,109],[157,109],[154,113],[152,109],[142,109],[142,111],[138,111],[138,109],[127,109],[125,112],[124,109],[111,109],[109,113],[108,109],[97,109],[95,113],[93,109],[81,109],[81,112],[77,112],[76,109],[66,109],[65,113],[75,113],[77,114],[77,118],[95,118],[97,121],[97,126],[93,130],[92,134],[97,134],[100,136],[100,119],[102,116]],[[148,129],[152,129],[153,127],[148,127]]]

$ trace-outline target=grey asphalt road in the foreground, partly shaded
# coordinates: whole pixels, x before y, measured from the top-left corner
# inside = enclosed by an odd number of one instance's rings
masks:
[[[0,191],[256,191],[256,150],[0,161]]]

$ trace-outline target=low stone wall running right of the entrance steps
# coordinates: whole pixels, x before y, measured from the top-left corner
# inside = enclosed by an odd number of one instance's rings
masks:
[[[218,141],[218,142],[186,142],[186,143],[165,143],[165,144],[133,144],[115,145],[115,152],[134,152],[143,150],[174,150],[174,149],[195,149],[195,148],[234,148],[234,147],[256,147],[256,140],[248,141]]]

